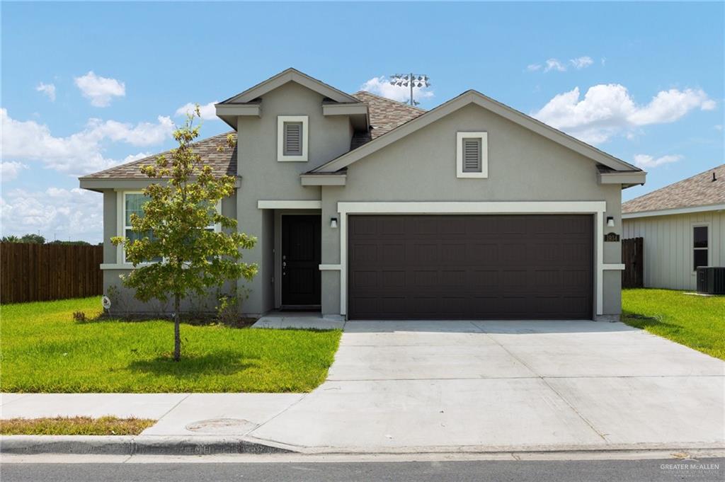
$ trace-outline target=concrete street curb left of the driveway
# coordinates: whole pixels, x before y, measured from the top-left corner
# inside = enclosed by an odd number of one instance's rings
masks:
[[[2,454],[212,455],[280,454],[289,449],[242,437],[11,435]]]

